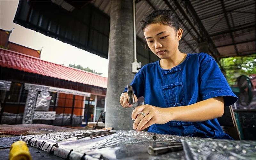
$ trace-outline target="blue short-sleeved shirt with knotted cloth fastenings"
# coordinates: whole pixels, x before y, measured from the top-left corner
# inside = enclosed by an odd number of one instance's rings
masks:
[[[224,105],[229,106],[238,100],[216,61],[206,53],[188,53],[185,60],[172,69],[161,68],[159,61],[143,66],[131,83],[134,94],[143,96],[145,104],[168,108],[223,96]],[[232,139],[222,131],[216,118],[204,122],[153,124],[148,132]]]

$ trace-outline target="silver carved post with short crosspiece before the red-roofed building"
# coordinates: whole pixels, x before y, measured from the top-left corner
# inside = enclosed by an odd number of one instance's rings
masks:
[[[35,84],[25,84],[25,89],[28,90],[28,97],[24,109],[22,124],[32,124],[32,118],[35,110],[36,96],[38,91],[49,91],[49,87]]]

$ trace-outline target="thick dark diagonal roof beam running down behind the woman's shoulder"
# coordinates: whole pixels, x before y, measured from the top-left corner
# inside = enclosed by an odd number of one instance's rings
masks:
[[[217,57],[218,55],[220,55],[220,52],[217,50],[215,44],[213,43],[211,37],[209,36],[209,34],[207,32],[207,30],[204,28],[204,25],[201,22],[201,20],[199,19],[198,15],[196,14],[196,11],[193,8],[192,4],[189,1],[173,1],[173,3],[177,6],[177,8],[180,10],[180,12],[182,14],[185,14],[186,17],[188,17],[187,13],[183,10],[183,8],[181,7],[180,4],[183,4],[186,6],[186,9],[191,13],[190,16],[192,17],[192,20],[194,19],[194,21],[192,21],[192,23],[196,24],[200,30],[199,37],[201,38],[201,40],[203,40],[204,42],[207,42],[209,44],[209,51],[212,53],[212,56],[215,58],[215,60],[219,64],[220,69],[222,71],[224,71],[223,67],[220,64],[220,60]],[[188,19],[190,20],[191,17],[190,18],[188,17]]]

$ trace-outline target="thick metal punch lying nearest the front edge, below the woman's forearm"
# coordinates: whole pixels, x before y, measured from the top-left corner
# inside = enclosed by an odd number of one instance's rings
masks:
[[[158,147],[148,146],[148,154],[157,156],[159,154],[164,154],[167,152],[175,152],[182,150],[182,145],[163,145]]]

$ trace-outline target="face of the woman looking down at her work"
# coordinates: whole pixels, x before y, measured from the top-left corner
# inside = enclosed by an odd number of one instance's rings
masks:
[[[160,59],[169,59],[178,50],[183,30],[175,31],[168,25],[149,24],[144,28],[144,36],[150,50]]]

